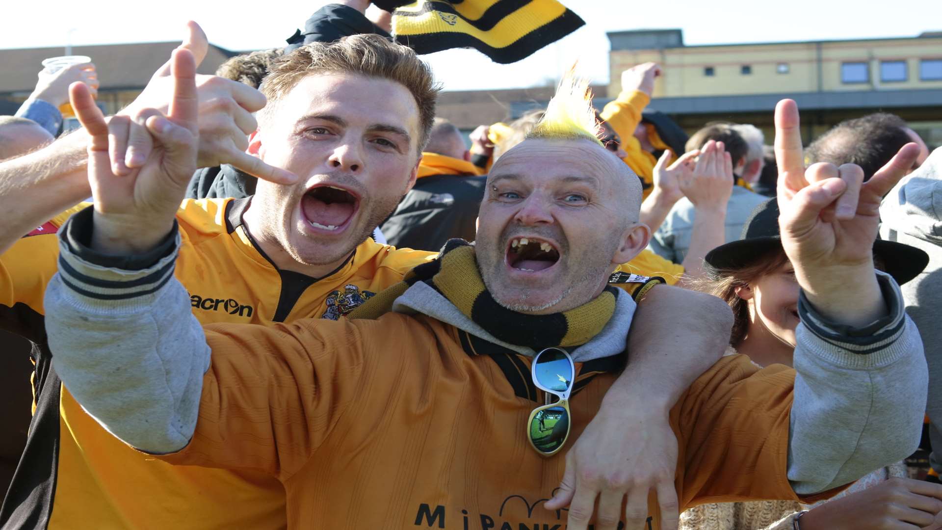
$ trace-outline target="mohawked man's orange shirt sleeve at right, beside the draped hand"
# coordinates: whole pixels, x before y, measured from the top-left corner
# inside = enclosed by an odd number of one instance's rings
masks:
[[[682,508],[759,499],[799,500],[788,483],[795,373],[725,356],[671,412],[679,428]],[[680,477],[678,477],[680,478]]]

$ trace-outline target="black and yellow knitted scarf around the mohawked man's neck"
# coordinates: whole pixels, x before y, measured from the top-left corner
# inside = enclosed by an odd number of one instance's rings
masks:
[[[416,282],[425,282],[442,293],[496,339],[534,350],[584,344],[602,331],[615,312],[616,294],[610,286],[593,301],[561,313],[525,315],[500,306],[484,287],[474,247],[464,240],[448,240],[434,261],[415,267],[401,282],[350,312],[349,318],[381,317]]]

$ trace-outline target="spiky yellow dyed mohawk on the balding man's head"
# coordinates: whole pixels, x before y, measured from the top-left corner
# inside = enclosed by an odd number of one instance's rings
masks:
[[[556,95],[549,100],[543,119],[527,138],[575,139],[584,138],[602,145],[598,140],[599,125],[592,106],[592,91],[589,79],[577,77],[574,66],[562,76]]]

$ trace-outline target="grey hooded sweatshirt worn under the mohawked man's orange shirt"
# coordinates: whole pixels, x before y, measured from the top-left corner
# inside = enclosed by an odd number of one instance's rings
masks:
[[[152,454],[178,451],[195,431],[211,356],[187,291],[172,276],[179,239],[168,240],[156,264],[122,270],[79,242],[87,239],[74,234],[75,219],[60,230],[62,266],[45,296],[56,372],[116,437]],[[928,378],[922,345],[899,288],[885,274],[879,280],[890,315],[862,329],[828,324],[804,296],[799,303],[788,478],[800,494],[851,482],[918,444]],[[634,306],[623,298],[609,331],[630,324]],[[409,290],[397,306],[480,334],[433,291]],[[617,353],[624,337],[610,335],[583,348]]]

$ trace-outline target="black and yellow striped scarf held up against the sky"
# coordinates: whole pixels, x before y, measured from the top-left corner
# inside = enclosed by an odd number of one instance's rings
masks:
[[[585,22],[556,0],[374,0],[393,37],[417,54],[476,48],[502,64],[528,57]]]

